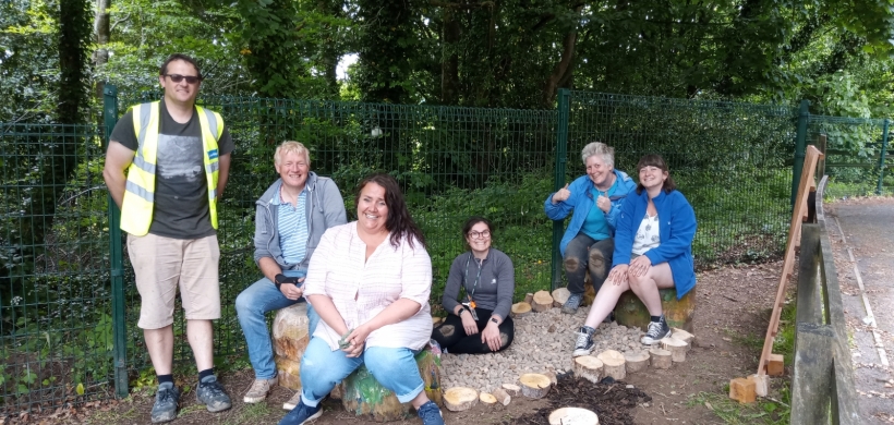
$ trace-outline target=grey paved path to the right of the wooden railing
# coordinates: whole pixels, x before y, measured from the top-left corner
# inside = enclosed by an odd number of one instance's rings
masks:
[[[853,336],[850,342],[860,408],[867,423],[892,424],[894,198],[853,199],[826,205],[845,315]],[[835,226],[835,218],[841,229]],[[863,291],[859,288],[860,281]]]

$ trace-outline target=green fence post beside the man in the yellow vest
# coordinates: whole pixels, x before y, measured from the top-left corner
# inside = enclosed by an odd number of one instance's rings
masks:
[[[102,118],[106,127],[105,147],[109,145],[114,124],[118,122],[118,87],[107,84],[102,88]],[[109,195],[109,263],[112,284],[112,337],[114,342],[114,392],[128,397],[128,330],[124,317],[124,258],[121,246],[121,210]]]

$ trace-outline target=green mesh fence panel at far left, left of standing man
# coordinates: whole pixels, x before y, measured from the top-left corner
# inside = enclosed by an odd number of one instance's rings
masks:
[[[0,412],[112,394],[101,141],[0,123]]]

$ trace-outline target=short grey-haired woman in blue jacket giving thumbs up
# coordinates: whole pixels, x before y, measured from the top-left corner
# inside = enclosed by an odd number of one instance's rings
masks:
[[[552,220],[564,220],[573,211],[565,230],[559,250],[565,259],[568,277],[568,301],[563,313],[575,314],[583,300],[583,279],[590,271],[590,281],[599,292],[608,275],[615,243],[615,222],[621,201],[637,187],[633,179],[615,170],[615,149],[593,142],[580,153],[587,174],[576,179],[558,192],[549,194],[543,204]]]

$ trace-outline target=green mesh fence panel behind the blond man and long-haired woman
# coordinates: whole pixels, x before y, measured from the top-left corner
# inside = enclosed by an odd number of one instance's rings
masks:
[[[122,100],[120,110],[141,100]],[[216,324],[218,355],[245,350],[235,296],[261,277],[252,259],[255,201],[278,174],[273,155],[287,139],[311,149],[311,169],[331,177],[355,219],[354,187],[373,171],[401,184],[424,231],[434,265],[432,305],[440,304],[452,259],[464,251],[460,228],[471,215],[495,224],[494,246],[516,266],[517,292],[549,286],[552,223],[542,199],[552,190],[555,111],[495,110],[238,97],[204,98],[222,113],[237,145],[222,198],[220,229],[222,318]],[[128,289],[129,364],[148,364],[135,328],[140,299]],[[178,305],[178,360],[190,357]]]

